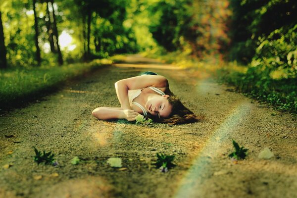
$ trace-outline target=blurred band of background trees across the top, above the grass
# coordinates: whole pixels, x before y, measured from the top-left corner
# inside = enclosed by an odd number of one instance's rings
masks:
[[[294,75],[297,70],[295,0],[1,2],[2,65],[63,64],[161,49]]]

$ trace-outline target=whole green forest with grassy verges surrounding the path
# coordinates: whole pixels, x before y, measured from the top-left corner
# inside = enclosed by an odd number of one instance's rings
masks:
[[[20,94],[30,74],[46,85],[70,64],[147,52],[219,64],[223,82],[297,112],[296,34],[296,0],[0,0],[1,103],[38,92]]]

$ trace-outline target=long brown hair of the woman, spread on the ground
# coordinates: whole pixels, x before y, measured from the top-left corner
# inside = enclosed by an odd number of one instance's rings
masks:
[[[172,105],[172,112],[168,118],[156,118],[152,119],[155,122],[167,123],[169,125],[174,124],[186,124],[200,121],[202,116],[195,115],[175,96],[168,97],[169,103]]]

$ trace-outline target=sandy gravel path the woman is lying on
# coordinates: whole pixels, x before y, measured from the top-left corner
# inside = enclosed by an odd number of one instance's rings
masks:
[[[206,74],[171,67],[129,56],[126,65],[101,68],[2,114],[0,198],[297,198],[296,118],[230,92]],[[119,106],[114,82],[148,70],[166,76],[205,120],[147,127],[92,117],[98,106]],[[246,160],[228,158],[232,139],[249,149]],[[59,166],[37,165],[34,146],[55,153]],[[265,147],[275,156],[259,159]],[[177,166],[160,173],[152,165],[156,152],[174,154]],[[80,164],[70,163],[74,156]],[[109,167],[109,157],[121,157],[126,169]]]

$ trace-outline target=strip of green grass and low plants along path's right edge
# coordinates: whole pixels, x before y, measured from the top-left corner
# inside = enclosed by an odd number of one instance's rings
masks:
[[[280,78],[259,71],[239,72],[227,68],[217,70],[217,78],[236,88],[238,92],[265,102],[275,109],[297,113],[297,79]]]

